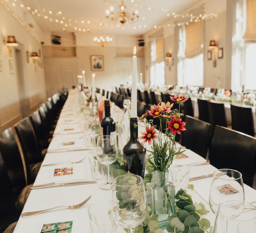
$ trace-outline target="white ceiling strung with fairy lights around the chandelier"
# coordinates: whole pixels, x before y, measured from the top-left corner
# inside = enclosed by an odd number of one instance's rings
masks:
[[[180,13],[180,11],[197,1],[124,0],[127,12],[131,12],[133,9],[139,11],[139,20],[133,24],[126,22],[122,25],[118,22],[115,24],[109,22],[105,13],[110,6],[114,6],[114,12],[116,13],[119,10],[121,0],[23,0],[24,5],[31,8],[30,13],[35,9],[38,11],[31,15],[44,32],[63,31],[63,28],[66,32],[75,32],[81,28],[81,32],[86,31],[84,33],[87,33],[87,29],[90,29],[92,33],[103,31],[103,33],[122,35],[142,35],[155,25],[158,26],[161,22],[171,18],[173,12]],[[59,11],[61,11],[61,15],[56,15]],[[37,14],[40,14],[40,16],[37,16]],[[170,16],[167,16],[167,14]],[[52,19],[52,22],[50,19]],[[55,22],[56,19],[58,22]],[[71,19],[71,22],[69,19]],[[60,21],[63,21],[63,23],[61,24]],[[90,21],[90,23],[88,24],[87,21]],[[103,27],[100,26],[100,23],[103,23]],[[67,24],[67,27],[65,27],[65,24]],[[75,27],[77,30],[75,30]]]

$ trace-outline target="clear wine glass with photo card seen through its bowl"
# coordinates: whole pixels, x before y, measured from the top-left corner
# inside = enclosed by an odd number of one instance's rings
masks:
[[[232,200],[244,201],[242,174],[232,169],[219,169],[213,174],[209,196],[210,208],[217,214],[221,203]]]

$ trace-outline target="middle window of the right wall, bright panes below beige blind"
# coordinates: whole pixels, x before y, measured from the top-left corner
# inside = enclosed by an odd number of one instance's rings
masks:
[[[178,51],[178,86],[187,85],[203,86],[204,83],[204,57],[199,54],[193,58],[185,57],[186,30],[185,26],[179,29],[179,51]]]

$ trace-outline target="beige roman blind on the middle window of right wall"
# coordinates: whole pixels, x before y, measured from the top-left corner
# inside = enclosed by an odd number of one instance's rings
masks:
[[[202,53],[203,33],[202,22],[194,22],[186,25],[186,58],[193,58]]]

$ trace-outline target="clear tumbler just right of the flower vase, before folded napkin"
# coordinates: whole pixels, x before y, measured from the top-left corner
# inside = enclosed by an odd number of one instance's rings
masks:
[[[177,165],[170,167],[171,181],[176,190],[186,189],[188,187],[190,167],[187,165]]]

